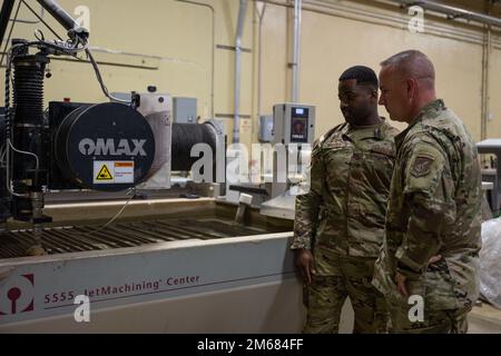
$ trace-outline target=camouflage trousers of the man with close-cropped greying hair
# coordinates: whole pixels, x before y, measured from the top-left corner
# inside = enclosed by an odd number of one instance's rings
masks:
[[[471,307],[450,310],[430,310],[424,306],[422,322],[410,317],[411,305],[392,303],[390,312],[390,333],[395,334],[465,334],[468,332],[468,313]],[[412,314],[412,312],[411,312]]]

